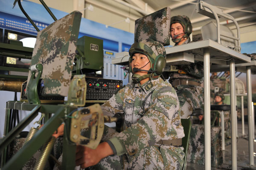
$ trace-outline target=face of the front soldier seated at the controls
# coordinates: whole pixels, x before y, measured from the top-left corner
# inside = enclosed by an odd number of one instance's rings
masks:
[[[149,70],[150,62],[148,60],[148,57],[143,54],[140,54],[140,53],[135,53],[132,56],[132,61],[131,61],[131,69],[133,70],[133,68]],[[148,72],[138,71],[138,72],[136,72],[136,74],[146,75],[146,74],[148,74]]]

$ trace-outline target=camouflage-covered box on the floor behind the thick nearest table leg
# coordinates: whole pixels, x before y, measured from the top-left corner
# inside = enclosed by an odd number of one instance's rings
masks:
[[[192,125],[187,161],[204,165],[204,125]],[[220,167],[223,163],[221,148],[221,127],[211,127],[211,166]]]

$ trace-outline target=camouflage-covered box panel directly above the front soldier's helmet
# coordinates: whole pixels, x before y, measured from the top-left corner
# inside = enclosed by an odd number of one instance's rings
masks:
[[[166,7],[135,21],[134,42],[151,38],[170,45],[171,9]]]

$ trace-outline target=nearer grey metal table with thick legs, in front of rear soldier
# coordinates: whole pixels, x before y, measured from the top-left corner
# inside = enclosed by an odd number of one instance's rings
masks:
[[[122,58],[113,59],[113,64],[128,62],[122,53]],[[236,153],[236,91],[235,91],[235,62],[249,63],[250,57],[229,49],[213,40],[201,40],[180,46],[166,47],[166,62],[177,65],[187,62],[204,61],[204,140],[205,140],[205,170],[211,169],[211,127],[210,127],[210,63],[230,66],[230,104],[232,127],[232,169],[237,168]],[[250,85],[249,85],[250,86]],[[250,87],[251,89],[251,87]],[[251,99],[251,96],[250,96]],[[248,102],[249,103],[249,102]]]

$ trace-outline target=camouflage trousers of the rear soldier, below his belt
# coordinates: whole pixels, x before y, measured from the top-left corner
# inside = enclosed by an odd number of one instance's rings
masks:
[[[195,109],[201,108],[204,100],[204,89],[195,85],[178,85],[176,88],[181,118],[189,118]]]

